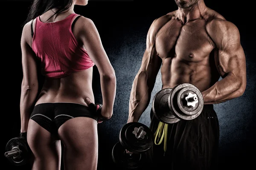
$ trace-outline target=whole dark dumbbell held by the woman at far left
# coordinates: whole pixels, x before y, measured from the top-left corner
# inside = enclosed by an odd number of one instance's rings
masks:
[[[23,138],[13,138],[6,144],[5,157],[15,166],[27,164],[29,161],[30,149]]]

